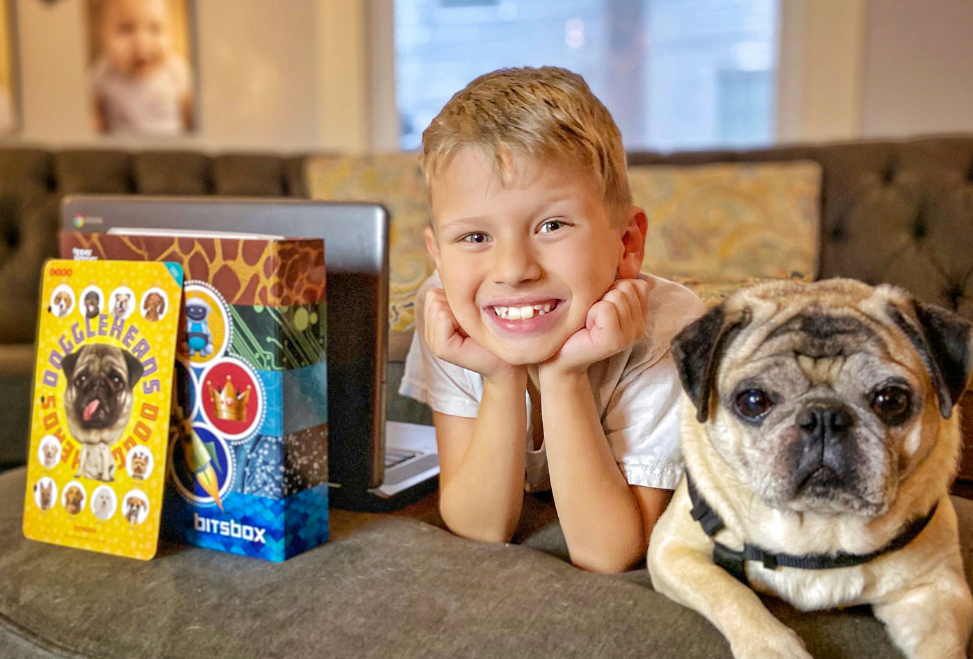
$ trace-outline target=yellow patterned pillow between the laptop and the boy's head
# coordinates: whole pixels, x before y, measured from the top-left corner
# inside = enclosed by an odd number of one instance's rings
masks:
[[[411,332],[415,291],[433,271],[423,235],[429,202],[417,156],[315,156],[306,162],[305,179],[311,199],[377,201],[388,210],[388,327]]]

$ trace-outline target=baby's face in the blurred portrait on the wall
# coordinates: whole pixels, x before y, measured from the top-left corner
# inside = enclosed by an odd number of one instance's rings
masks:
[[[136,78],[153,73],[169,50],[164,0],[108,0],[101,46],[120,73]]]

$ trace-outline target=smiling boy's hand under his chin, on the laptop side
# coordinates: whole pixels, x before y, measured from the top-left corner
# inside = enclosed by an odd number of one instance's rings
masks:
[[[425,296],[425,340],[432,353],[486,380],[517,370],[470,338],[452,314],[446,291],[430,288]]]

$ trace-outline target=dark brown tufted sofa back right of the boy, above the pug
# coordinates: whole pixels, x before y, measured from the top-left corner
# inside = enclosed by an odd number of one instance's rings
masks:
[[[973,135],[630,154],[630,165],[821,165],[816,278],[892,283],[973,320]]]

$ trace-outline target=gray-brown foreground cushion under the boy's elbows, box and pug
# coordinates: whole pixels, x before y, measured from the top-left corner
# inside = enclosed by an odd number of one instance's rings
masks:
[[[730,657],[644,568],[597,575],[528,546],[334,509],[332,539],[283,564],[195,547],[143,563],[24,539],[24,480],[0,475],[0,656]],[[969,547],[973,502],[956,505]],[[556,526],[535,538],[562,547]],[[896,655],[867,609],[769,602],[817,659]]]

